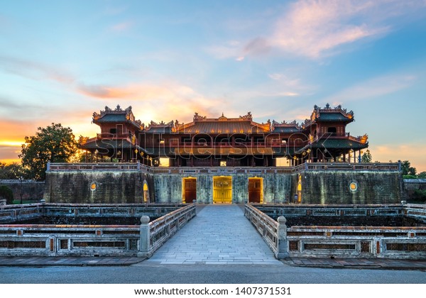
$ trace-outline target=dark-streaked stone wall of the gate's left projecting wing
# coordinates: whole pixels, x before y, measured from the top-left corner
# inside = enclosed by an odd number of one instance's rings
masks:
[[[44,199],[74,204],[142,203],[144,181],[152,201],[152,177],[140,171],[47,172]]]

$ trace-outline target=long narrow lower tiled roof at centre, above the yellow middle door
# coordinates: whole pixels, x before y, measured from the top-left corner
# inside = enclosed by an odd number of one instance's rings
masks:
[[[175,148],[177,155],[273,155],[272,148]]]

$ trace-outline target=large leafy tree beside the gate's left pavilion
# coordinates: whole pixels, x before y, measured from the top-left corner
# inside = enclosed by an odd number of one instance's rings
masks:
[[[31,177],[45,180],[48,162],[69,161],[77,151],[77,141],[71,128],[62,127],[60,123],[37,129],[35,136],[25,137],[19,157]]]

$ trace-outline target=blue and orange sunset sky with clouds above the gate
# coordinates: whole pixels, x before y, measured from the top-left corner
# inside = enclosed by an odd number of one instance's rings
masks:
[[[354,111],[373,161],[426,171],[426,0],[0,0],[0,161],[92,114],[192,121],[251,111],[302,122],[313,106]]]

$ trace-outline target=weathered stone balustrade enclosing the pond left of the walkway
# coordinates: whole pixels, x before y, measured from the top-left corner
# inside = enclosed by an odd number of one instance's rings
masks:
[[[23,221],[39,216],[136,216],[142,210],[163,214],[150,221],[141,216],[141,225],[99,224],[2,224],[0,255],[28,256],[109,256],[149,257],[179,228],[195,216],[195,204],[179,206],[77,206],[72,204],[32,204],[2,206],[0,219]],[[139,208],[139,209],[138,209]],[[144,209],[145,208],[145,209]],[[171,209],[173,211],[171,211]],[[178,209],[177,209],[178,208]],[[126,212],[123,212],[123,211]]]

